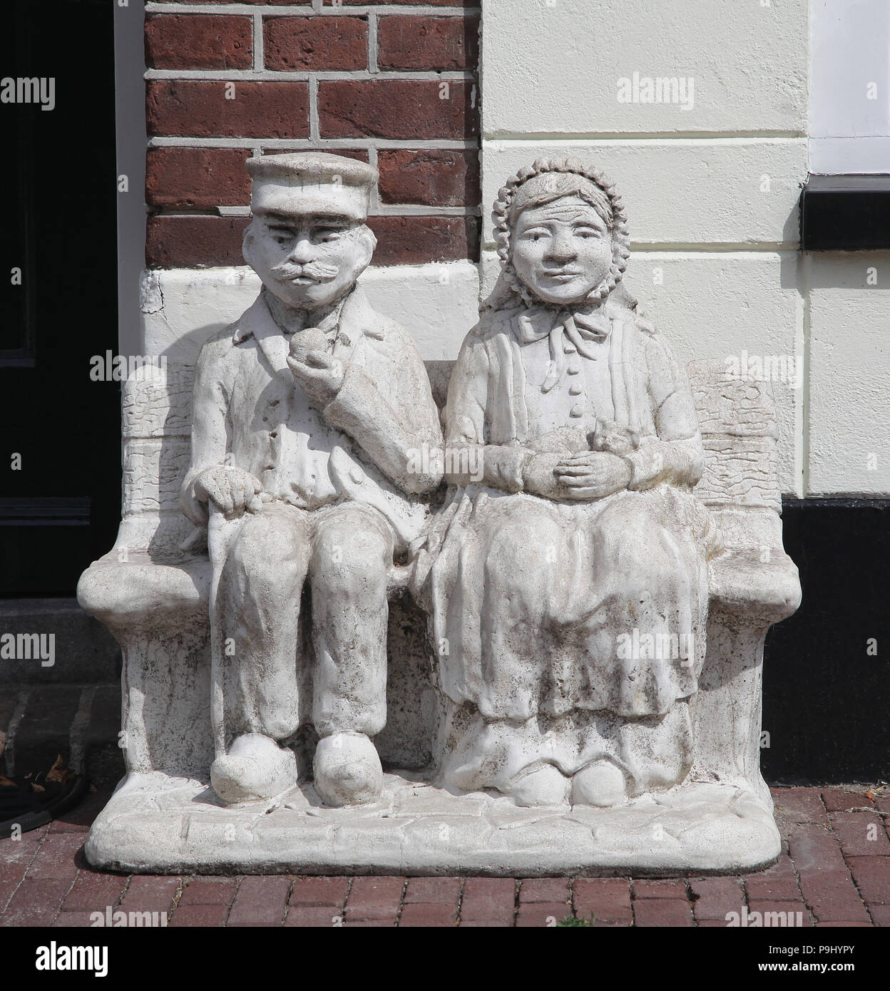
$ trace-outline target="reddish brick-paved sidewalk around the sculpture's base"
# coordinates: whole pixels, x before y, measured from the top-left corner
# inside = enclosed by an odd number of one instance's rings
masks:
[[[776,788],[779,861],[741,877],[152,877],[101,874],[84,834],[107,794],[0,840],[0,927],[89,926],[91,912],[167,912],[170,926],[724,927],[727,912],[803,913],[805,926],[890,926],[890,793]],[[881,813],[885,815],[880,815]]]

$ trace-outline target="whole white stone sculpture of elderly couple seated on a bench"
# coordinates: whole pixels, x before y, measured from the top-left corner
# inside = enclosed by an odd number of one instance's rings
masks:
[[[411,338],[356,283],[374,168],[248,168],[264,287],[196,368],[125,383],[121,527],[78,585],[123,652],[127,778],[89,862],[531,877],[774,860],[763,642],[801,589],[768,384],[727,380],[723,357],[679,366],[621,280],[612,183],[540,161],[499,194],[501,275],[443,444]]]

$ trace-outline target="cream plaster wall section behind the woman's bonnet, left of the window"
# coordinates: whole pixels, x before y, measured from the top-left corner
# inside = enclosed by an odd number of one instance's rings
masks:
[[[796,367],[808,17],[809,0],[554,0],[522,17],[513,0],[485,0],[484,204],[541,156],[603,168],[627,209],[626,284],[678,357],[744,350]],[[676,93],[644,102],[644,80],[659,77],[676,78]],[[486,286],[493,247],[487,227]],[[800,496],[805,389],[774,391],[781,486]]]

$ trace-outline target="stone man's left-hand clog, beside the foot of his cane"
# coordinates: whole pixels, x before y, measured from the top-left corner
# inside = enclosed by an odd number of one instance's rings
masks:
[[[273,799],[296,784],[296,758],[268,736],[247,733],[213,761],[210,783],[226,805]]]

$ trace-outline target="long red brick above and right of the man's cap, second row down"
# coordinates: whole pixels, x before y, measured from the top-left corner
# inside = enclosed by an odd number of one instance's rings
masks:
[[[297,85],[297,83],[264,83]],[[322,138],[461,140],[479,133],[472,84],[413,79],[322,80],[318,123]],[[440,97],[440,93],[443,96]]]

